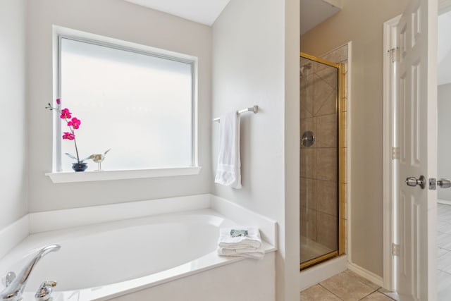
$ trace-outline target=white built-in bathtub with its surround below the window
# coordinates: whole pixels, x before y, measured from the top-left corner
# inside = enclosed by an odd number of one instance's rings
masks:
[[[96,222],[93,217],[99,210],[105,214]],[[223,215],[230,212],[236,213],[233,219]],[[276,247],[271,243],[276,242],[276,223],[225,199],[197,195],[49,211],[27,218],[32,234],[0,260],[0,274],[20,270],[44,245],[61,245],[59,252],[35,267],[25,288],[24,297],[30,300],[47,279],[60,283],[54,288],[54,300],[60,301],[211,300],[216,294],[214,300],[274,300]],[[45,225],[47,219],[54,223]],[[242,225],[260,228],[267,239],[264,259],[216,253],[219,228]],[[240,281],[237,275],[247,280]],[[255,292],[257,286],[264,287]]]

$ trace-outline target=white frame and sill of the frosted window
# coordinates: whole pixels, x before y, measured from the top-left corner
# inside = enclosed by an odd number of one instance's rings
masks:
[[[138,54],[146,54],[171,59],[192,65],[192,166],[182,168],[152,168],[133,169],[128,171],[85,171],[85,172],[63,172],[61,171],[61,120],[54,114],[54,135],[53,135],[53,164],[52,172],[46,173],[54,183],[85,182],[95,180],[120,180],[130,178],[155,178],[166,176],[187,176],[197,175],[202,167],[198,165],[198,124],[197,124],[197,57],[180,54],[173,51],[157,49],[132,42],[125,42],[119,39],[94,35],[88,32],[72,30],[66,27],[54,25],[53,27],[53,63],[54,63],[54,99],[60,96],[61,70],[60,41],[62,38],[74,39],[80,42],[88,42],[100,46],[132,51]]]

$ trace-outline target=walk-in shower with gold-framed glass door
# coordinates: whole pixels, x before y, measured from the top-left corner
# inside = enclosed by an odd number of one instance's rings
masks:
[[[300,269],[344,252],[341,69],[339,63],[300,55]]]

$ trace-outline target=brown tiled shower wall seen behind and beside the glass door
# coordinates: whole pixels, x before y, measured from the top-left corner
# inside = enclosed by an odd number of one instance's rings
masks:
[[[347,62],[347,45],[330,51],[322,57],[335,63]],[[309,63],[301,58],[301,66]],[[346,78],[346,76],[345,76]],[[301,235],[321,243],[330,249],[337,247],[337,156],[341,157],[340,168],[342,228],[345,240],[346,233],[346,197],[347,197],[347,171],[346,171],[346,125],[347,125],[347,92],[346,89],[341,101],[340,119],[342,137],[340,137],[340,152],[337,152],[337,115],[335,111],[337,74],[335,68],[324,66],[321,63],[311,62],[311,68],[304,68],[301,81],[301,135],[311,130],[316,136],[316,142],[311,147],[302,147],[300,169],[300,195],[301,195]],[[346,87],[345,85],[343,85]],[[346,250],[346,245],[345,245]]]

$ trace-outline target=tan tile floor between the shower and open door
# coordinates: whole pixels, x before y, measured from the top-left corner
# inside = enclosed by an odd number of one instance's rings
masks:
[[[301,301],[393,301],[397,295],[352,271],[344,271],[301,292]]]

